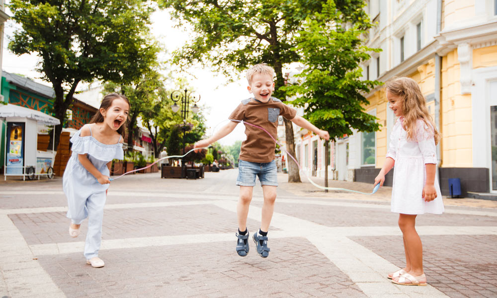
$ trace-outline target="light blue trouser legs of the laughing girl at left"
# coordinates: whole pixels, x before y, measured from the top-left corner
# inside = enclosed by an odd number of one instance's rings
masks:
[[[86,200],[81,198],[68,199],[69,211],[67,217],[73,224],[81,224],[88,218],[88,232],[84,243],[84,257],[89,260],[98,257],[102,242],[103,206],[106,200],[105,192],[90,195]]]

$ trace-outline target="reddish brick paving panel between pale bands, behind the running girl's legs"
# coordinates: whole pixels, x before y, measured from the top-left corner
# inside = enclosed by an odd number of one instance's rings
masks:
[[[66,213],[13,214],[9,218],[29,245],[84,241],[84,236],[68,237]],[[233,212],[208,205],[104,210],[102,239],[235,233],[236,220]],[[258,223],[248,219],[247,225],[255,229]],[[86,228],[83,221],[82,235],[86,234]],[[278,229],[271,227],[271,230]]]

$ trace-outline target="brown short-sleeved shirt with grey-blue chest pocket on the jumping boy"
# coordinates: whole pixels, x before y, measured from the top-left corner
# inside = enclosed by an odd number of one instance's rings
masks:
[[[231,113],[230,119],[243,120],[264,128],[268,133],[277,138],[278,116],[281,115],[292,120],[297,111],[282,103],[281,100],[271,97],[267,103],[255,98],[245,99]],[[274,159],[276,143],[260,128],[245,125],[247,140],[242,143],[240,159],[250,162],[271,162]]]

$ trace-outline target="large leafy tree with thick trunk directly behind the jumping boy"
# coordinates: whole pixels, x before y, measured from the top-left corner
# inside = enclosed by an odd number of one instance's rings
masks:
[[[274,96],[286,100],[283,66],[297,62],[298,32],[307,17],[321,11],[321,0],[160,0],[174,8],[173,17],[193,26],[193,39],[176,53],[180,65],[208,59],[225,74],[267,63],[276,72]],[[355,12],[354,12],[355,13]],[[293,126],[285,119],[288,151],[295,155]],[[300,182],[297,165],[290,163],[289,182]]]

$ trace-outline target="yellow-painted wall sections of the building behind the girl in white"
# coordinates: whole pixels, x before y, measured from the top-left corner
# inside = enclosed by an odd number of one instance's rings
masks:
[[[497,46],[473,50],[473,68],[497,66]],[[434,60],[420,65],[409,77],[420,86],[423,95],[432,94],[435,90]],[[472,99],[471,94],[461,94],[460,65],[457,49],[442,57],[441,67],[441,105],[440,105],[440,141],[442,150],[442,167],[473,166],[472,135]],[[387,100],[383,89],[368,98],[370,104],[366,111],[376,108],[378,123],[382,125],[376,132],[376,167],[385,162],[387,151]],[[434,119],[435,102],[430,101],[427,107]]]

